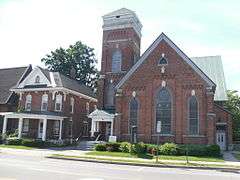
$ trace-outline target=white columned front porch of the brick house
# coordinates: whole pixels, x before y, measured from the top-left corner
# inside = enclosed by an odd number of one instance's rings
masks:
[[[38,132],[41,133],[42,141],[46,141],[47,137],[47,122],[48,121],[59,121],[59,136],[58,139],[62,140],[62,127],[63,120],[66,117],[56,116],[56,115],[45,115],[45,114],[32,114],[32,113],[17,113],[17,112],[6,112],[0,113],[0,116],[3,116],[3,128],[2,135],[6,136],[7,133],[7,124],[9,119],[17,119],[18,120],[18,138],[22,138],[23,134],[23,123],[25,119],[28,120],[39,120]],[[39,137],[38,137],[39,138]]]

